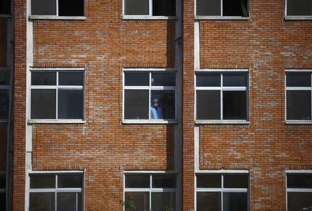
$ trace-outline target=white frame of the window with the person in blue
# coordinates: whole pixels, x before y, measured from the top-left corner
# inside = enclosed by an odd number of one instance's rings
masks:
[[[125,73],[145,72],[149,73],[149,85],[146,86],[125,86]],[[175,86],[152,86],[151,75],[155,72],[175,73]],[[150,110],[148,110],[148,119],[125,119],[125,90],[148,90],[148,108],[150,108],[151,90],[173,90],[175,92],[175,119],[150,119]],[[123,69],[123,120],[124,124],[176,124],[177,123],[177,71],[175,69]]]

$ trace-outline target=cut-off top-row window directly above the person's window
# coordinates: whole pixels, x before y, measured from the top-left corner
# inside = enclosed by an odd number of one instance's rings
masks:
[[[123,0],[123,15],[175,16],[175,0]]]

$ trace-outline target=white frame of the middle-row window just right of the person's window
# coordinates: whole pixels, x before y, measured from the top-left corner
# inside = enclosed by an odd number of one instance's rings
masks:
[[[196,80],[197,74],[220,74],[221,82],[219,87],[197,87]],[[223,74],[226,73],[245,73],[247,74],[247,86],[246,87],[223,87]],[[195,107],[194,107],[194,119],[196,124],[249,124],[249,70],[248,69],[200,69],[195,71],[194,75],[195,86]],[[197,116],[197,94],[198,90],[220,90],[220,119],[196,119]],[[223,91],[245,91],[246,92],[246,118],[247,119],[223,119]]]

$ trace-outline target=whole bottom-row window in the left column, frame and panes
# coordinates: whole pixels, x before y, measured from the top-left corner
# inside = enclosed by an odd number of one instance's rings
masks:
[[[83,210],[83,173],[30,174],[29,210]]]

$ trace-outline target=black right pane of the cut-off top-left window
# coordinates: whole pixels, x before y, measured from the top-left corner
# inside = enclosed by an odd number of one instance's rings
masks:
[[[58,0],[59,16],[83,16],[84,0]]]

